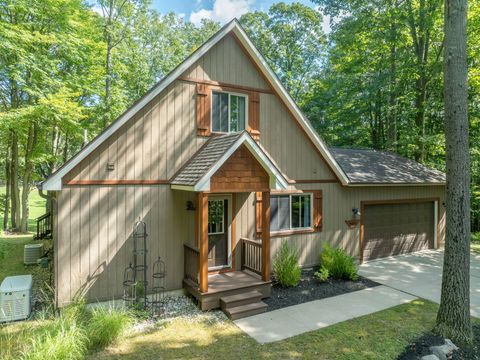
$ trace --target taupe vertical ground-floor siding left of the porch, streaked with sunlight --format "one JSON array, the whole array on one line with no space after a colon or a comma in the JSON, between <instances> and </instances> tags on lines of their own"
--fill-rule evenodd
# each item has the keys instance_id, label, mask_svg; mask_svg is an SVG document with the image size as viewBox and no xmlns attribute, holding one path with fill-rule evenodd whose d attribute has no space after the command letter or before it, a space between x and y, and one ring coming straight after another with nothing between
<instances>
[{"instance_id":1,"label":"taupe vertical ground-floor siding left of the porch, streaked with sunlight","mask_svg":"<svg viewBox=\"0 0 480 360\"><path fill-rule=\"evenodd\" d=\"M75 296L88 301L123 295L125 268L133 261L133 225L147 223L148 269L161 256L166 264L166 287L182 287L183 244L195 244L195 212L186 202L195 194L172 191L166 185L69 186L57 198L55 236L57 303Z\"/></svg>"}]
</instances>

